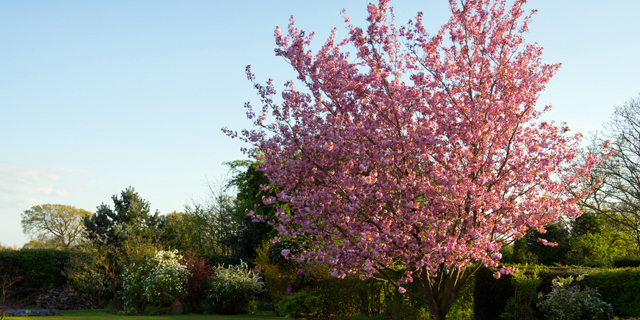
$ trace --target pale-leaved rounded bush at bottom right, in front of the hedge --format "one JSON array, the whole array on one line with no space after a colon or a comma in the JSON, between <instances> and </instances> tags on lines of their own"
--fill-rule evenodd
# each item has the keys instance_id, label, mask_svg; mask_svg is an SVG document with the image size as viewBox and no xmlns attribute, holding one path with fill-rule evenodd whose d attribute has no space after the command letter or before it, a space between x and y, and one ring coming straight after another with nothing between
<instances>
[{"instance_id":1,"label":"pale-leaved rounded bush at bottom right, in front of the hedge","mask_svg":"<svg viewBox=\"0 0 640 320\"><path fill-rule=\"evenodd\" d=\"M580 281L584 277L579 276ZM573 277L553 280L550 293L539 294L538 307L549 320L606 320L613 316L613 308L602 301L595 289L571 285Z\"/></svg>"}]
</instances>

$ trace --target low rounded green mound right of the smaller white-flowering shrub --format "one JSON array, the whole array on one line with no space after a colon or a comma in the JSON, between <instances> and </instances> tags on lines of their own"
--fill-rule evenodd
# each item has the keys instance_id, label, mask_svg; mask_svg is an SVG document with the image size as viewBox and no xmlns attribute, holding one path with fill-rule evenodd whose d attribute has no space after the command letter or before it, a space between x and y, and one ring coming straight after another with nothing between
<instances>
[{"instance_id":1,"label":"low rounded green mound right of the smaller white-flowering shrub","mask_svg":"<svg viewBox=\"0 0 640 320\"><path fill-rule=\"evenodd\" d=\"M287 318L318 317L323 313L325 303L322 296L312 290L303 290L280 301L278 314Z\"/></svg>"}]
</instances>

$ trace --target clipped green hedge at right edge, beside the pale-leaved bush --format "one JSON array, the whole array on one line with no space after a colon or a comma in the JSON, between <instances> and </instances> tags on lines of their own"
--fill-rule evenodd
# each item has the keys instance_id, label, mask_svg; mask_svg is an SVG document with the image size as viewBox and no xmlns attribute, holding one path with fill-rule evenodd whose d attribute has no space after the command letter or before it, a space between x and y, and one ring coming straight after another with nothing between
<instances>
[{"instance_id":1,"label":"clipped green hedge at right edge, beside the pale-leaved bush","mask_svg":"<svg viewBox=\"0 0 640 320\"><path fill-rule=\"evenodd\" d=\"M585 283L598 288L620 317L640 317L640 269L610 269L588 275Z\"/></svg>"}]
</instances>

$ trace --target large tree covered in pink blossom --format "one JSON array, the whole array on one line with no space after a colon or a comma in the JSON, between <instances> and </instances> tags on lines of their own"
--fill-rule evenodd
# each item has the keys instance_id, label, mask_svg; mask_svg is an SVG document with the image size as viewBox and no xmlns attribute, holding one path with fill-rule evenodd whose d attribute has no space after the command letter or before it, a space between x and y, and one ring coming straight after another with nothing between
<instances>
[{"instance_id":1,"label":"large tree covered in pink blossom","mask_svg":"<svg viewBox=\"0 0 640 320\"><path fill-rule=\"evenodd\" d=\"M580 182L597 162L578 164L581 136L539 120L550 107L536 100L560 64L524 42L526 0L460 2L429 36L421 14L397 28L380 0L366 29L349 25L340 42L334 29L315 54L292 18L287 35L275 31L276 55L303 89L289 81L276 102L273 81L256 83L247 67L263 106L246 105L253 129L223 129L261 151L245 149L278 187L265 203L288 205L271 222L280 235L312 239L292 258L336 277L396 273L436 319L475 270L499 266L502 246L580 215Z\"/></svg>"}]
</instances>

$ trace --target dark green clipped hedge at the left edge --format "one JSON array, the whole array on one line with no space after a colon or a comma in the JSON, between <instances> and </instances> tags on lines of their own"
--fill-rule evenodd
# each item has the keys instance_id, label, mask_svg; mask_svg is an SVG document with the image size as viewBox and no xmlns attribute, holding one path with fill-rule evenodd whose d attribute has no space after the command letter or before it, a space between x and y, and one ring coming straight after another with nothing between
<instances>
[{"instance_id":1,"label":"dark green clipped hedge at the left edge","mask_svg":"<svg viewBox=\"0 0 640 320\"><path fill-rule=\"evenodd\" d=\"M16 284L21 288L62 286L67 283L62 271L74 254L53 249L0 251L0 275L23 277Z\"/></svg>"}]
</instances>

